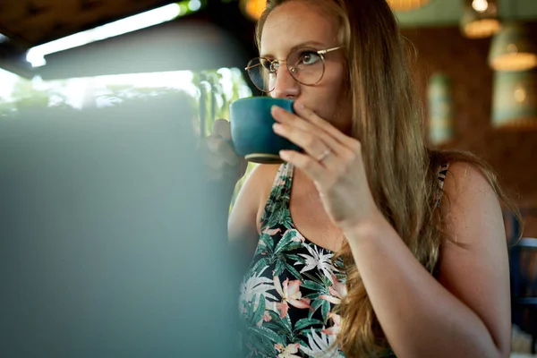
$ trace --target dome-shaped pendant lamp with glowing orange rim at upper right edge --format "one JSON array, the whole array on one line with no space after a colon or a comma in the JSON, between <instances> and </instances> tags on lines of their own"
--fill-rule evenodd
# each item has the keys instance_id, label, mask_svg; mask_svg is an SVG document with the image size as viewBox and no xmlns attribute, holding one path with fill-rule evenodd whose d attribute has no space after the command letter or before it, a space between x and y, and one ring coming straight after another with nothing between
<instances>
[{"instance_id":1,"label":"dome-shaped pendant lamp with glowing orange rim at upper right edge","mask_svg":"<svg viewBox=\"0 0 537 358\"><path fill-rule=\"evenodd\" d=\"M528 30L519 23L507 23L492 38L490 67L497 71L524 71L537 67L537 47Z\"/></svg>"}]
</instances>

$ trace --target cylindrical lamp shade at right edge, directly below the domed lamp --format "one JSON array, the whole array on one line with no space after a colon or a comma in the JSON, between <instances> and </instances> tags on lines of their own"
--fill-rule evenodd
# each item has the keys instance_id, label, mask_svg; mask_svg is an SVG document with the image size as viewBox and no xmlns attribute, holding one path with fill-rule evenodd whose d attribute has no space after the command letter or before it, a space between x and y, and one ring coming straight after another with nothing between
<instances>
[{"instance_id":1,"label":"cylindrical lamp shade at right edge, directly below the domed lamp","mask_svg":"<svg viewBox=\"0 0 537 358\"><path fill-rule=\"evenodd\" d=\"M492 125L537 128L537 70L495 72Z\"/></svg>"}]
</instances>

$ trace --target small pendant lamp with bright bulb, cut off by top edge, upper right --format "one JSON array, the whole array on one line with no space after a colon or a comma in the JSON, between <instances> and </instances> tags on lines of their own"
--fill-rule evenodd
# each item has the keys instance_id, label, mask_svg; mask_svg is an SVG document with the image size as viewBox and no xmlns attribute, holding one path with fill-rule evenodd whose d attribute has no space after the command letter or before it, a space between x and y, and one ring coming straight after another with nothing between
<instances>
[{"instance_id":1,"label":"small pendant lamp with bright bulb, cut off by top edge, upper right","mask_svg":"<svg viewBox=\"0 0 537 358\"><path fill-rule=\"evenodd\" d=\"M461 31L466 38L489 38L501 29L496 1L489 0L483 4L486 6L476 8L473 1L465 1Z\"/></svg>"}]
</instances>

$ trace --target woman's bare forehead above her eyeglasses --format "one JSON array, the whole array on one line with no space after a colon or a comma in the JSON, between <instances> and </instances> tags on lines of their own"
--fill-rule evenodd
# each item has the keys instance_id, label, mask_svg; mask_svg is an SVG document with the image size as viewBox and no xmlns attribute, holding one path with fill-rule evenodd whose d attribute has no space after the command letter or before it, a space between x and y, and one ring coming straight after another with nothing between
<instances>
[{"instance_id":1,"label":"woman's bare forehead above her eyeglasses","mask_svg":"<svg viewBox=\"0 0 537 358\"><path fill-rule=\"evenodd\" d=\"M291 1L268 15L260 41L260 55L285 57L297 47L337 46L336 21L318 6Z\"/></svg>"}]
</instances>

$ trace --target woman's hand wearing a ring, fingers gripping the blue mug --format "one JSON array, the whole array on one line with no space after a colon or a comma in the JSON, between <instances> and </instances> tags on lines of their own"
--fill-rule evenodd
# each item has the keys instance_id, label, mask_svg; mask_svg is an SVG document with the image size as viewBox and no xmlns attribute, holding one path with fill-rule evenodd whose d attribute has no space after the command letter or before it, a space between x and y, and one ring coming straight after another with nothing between
<instances>
[{"instance_id":1,"label":"woman's hand wearing a ring, fingers gripping the blue mug","mask_svg":"<svg viewBox=\"0 0 537 358\"><path fill-rule=\"evenodd\" d=\"M359 141L338 131L300 103L296 115L273 107L274 132L304 152L283 150L280 157L301 169L315 183L328 215L344 232L380 217L367 182Z\"/></svg>"}]
</instances>

